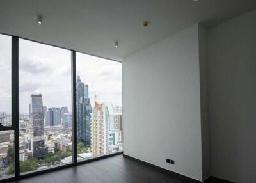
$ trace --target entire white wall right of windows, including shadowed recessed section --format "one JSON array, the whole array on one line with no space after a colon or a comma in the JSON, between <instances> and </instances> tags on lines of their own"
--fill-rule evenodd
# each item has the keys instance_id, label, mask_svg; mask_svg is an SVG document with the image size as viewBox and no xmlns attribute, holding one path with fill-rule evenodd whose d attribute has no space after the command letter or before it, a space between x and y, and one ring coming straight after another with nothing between
<instances>
[{"instance_id":1,"label":"entire white wall right of windows, including shadowed recessed section","mask_svg":"<svg viewBox=\"0 0 256 183\"><path fill-rule=\"evenodd\" d=\"M197 180L256 182L255 21L191 26L124 58L124 154Z\"/></svg>"}]
</instances>

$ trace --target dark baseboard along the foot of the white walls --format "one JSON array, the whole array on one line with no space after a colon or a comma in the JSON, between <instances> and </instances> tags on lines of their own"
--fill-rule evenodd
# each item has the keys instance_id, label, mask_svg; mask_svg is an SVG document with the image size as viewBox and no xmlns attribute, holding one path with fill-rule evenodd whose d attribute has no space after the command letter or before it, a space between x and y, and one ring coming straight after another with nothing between
<instances>
[{"instance_id":1,"label":"dark baseboard along the foot of the white walls","mask_svg":"<svg viewBox=\"0 0 256 183\"><path fill-rule=\"evenodd\" d=\"M200 182L200 183L202 183L202 181L193 179L191 177L187 177L185 175L181 175L180 173L176 173L174 171L167 170L167 169L162 168L160 166L156 166L155 164L151 164L151 163L142 161L140 159L137 159L135 157L131 157L131 156L126 155L126 154L123 154L123 157L128 158L128 159L132 159L133 161L137 161L137 162L143 163L146 166L150 166L151 168L156 169L157 171L162 171L164 173L168 173L172 177L177 177L177 179L184 180L186 182L191 182L191 183L199 183ZM217 177L209 176L206 180L204 180L204 183L234 183L234 182L230 182L228 180L223 180L223 179L219 179Z\"/></svg>"}]
</instances>

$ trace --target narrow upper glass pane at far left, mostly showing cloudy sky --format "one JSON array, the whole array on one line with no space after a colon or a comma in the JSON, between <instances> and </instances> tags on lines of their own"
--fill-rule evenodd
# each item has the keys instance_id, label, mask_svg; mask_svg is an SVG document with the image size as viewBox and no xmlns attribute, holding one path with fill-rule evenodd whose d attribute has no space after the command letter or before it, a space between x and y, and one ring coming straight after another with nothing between
<instances>
[{"instance_id":1,"label":"narrow upper glass pane at far left, mostly showing cloudy sky","mask_svg":"<svg viewBox=\"0 0 256 183\"><path fill-rule=\"evenodd\" d=\"M0 127L12 125L12 37L0 35Z\"/></svg>"}]
</instances>

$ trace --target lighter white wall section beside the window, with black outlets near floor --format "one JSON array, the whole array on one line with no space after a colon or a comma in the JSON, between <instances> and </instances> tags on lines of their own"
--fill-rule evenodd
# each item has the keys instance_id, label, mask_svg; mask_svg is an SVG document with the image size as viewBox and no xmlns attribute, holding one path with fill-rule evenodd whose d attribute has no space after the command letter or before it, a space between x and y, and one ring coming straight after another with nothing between
<instances>
[{"instance_id":1,"label":"lighter white wall section beside the window, with black outlets near floor","mask_svg":"<svg viewBox=\"0 0 256 183\"><path fill-rule=\"evenodd\" d=\"M124 58L124 154L202 180L198 49L196 24Z\"/></svg>"}]
</instances>

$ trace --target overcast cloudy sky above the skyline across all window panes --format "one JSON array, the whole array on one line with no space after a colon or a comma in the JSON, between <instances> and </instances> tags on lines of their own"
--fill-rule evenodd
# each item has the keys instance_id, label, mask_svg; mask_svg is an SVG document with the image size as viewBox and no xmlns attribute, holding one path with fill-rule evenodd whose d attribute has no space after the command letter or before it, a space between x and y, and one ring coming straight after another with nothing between
<instances>
[{"instance_id":1,"label":"overcast cloudy sky above the skyline across all window panes","mask_svg":"<svg viewBox=\"0 0 256 183\"><path fill-rule=\"evenodd\" d=\"M10 113L10 37L0 35L0 111ZM70 51L19 40L19 110L29 112L31 94L41 93L47 107L71 109ZM77 74L89 85L94 106L95 94L101 102L122 106L122 64L77 53Z\"/></svg>"}]
</instances>

